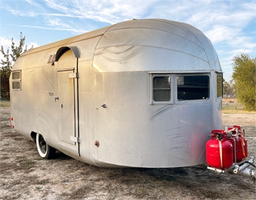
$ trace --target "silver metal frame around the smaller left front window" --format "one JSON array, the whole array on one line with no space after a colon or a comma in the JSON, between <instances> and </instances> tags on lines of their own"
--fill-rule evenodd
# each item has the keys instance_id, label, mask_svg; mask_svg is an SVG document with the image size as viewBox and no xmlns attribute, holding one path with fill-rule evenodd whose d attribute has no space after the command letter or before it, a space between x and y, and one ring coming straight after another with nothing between
<instances>
[{"instance_id":1,"label":"silver metal frame around the smaller left front window","mask_svg":"<svg viewBox=\"0 0 256 200\"><path fill-rule=\"evenodd\" d=\"M169 77L170 78L170 101L154 101L154 77ZM173 74L170 73L151 73L150 82L151 82L151 97L150 104L173 104Z\"/></svg>"}]
</instances>

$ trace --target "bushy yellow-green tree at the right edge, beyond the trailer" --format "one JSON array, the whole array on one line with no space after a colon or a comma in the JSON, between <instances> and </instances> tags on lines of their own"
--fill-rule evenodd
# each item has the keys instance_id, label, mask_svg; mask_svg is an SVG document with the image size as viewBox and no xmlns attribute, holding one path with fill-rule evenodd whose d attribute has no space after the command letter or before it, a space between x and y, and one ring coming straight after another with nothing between
<instances>
[{"instance_id":1,"label":"bushy yellow-green tree at the right edge, beyond the trailer","mask_svg":"<svg viewBox=\"0 0 256 200\"><path fill-rule=\"evenodd\" d=\"M246 53L233 57L233 80L236 96L244 109L256 111L256 57Z\"/></svg>"}]
</instances>

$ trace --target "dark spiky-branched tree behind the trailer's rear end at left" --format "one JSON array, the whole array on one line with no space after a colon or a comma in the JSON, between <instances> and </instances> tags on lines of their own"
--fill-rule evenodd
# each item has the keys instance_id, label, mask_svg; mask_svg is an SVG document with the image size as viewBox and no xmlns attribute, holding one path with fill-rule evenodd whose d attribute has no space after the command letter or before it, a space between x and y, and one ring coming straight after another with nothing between
<instances>
[{"instance_id":1,"label":"dark spiky-branched tree behind the trailer's rear end at left","mask_svg":"<svg viewBox=\"0 0 256 200\"><path fill-rule=\"evenodd\" d=\"M11 45L12 53L10 53L9 47L7 48L7 51L5 53L4 47L1 46L1 53L4 55L4 58L1 59L1 69L0 69L1 98L10 99L9 77L12 70L12 64L15 61L17 61L18 57L20 57L21 54L25 53L28 50L27 45L24 48L25 39L26 39L26 36L23 36L22 32L20 32L20 44L16 46L14 39L12 38L12 45ZM31 48L33 48L33 46Z\"/></svg>"}]
</instances>

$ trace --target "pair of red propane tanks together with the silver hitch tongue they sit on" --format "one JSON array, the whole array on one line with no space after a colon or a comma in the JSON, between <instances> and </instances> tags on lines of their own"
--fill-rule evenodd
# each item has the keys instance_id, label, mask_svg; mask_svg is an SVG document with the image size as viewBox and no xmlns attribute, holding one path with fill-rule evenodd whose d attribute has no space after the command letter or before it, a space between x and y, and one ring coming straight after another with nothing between
<instances>
[{"instance_id":1,"label":"pair of red propane tanks together with the silver hitch tongue they sit on","mask_svg":"<svg viewBox=\"0 0 256 200\"><path fill-rule=\"evenodd\" d=\"M240 126L226 127L225 130L211 131L206 142L208 169L215 172L239 174L256 179L255 158L248 158L247 140Z\"/></svg>"}]
</instances>

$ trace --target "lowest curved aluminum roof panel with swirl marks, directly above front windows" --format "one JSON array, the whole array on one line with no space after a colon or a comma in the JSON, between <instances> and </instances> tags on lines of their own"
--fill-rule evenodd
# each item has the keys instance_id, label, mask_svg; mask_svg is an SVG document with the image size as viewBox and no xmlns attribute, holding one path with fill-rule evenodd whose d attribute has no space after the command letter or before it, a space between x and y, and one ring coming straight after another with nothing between
<instances>
[{"instance_id":1,"label":"lowest curved aluminum roof panel with swirl marks, directly above front windows","mask_svg":"<svg viewBox=\"0 0 256 200\"><path fill-rule=\"evenodd\" d=\"M203 59L177 51L144 46L108 47L96 50L94 66L101 72L210 71L208 62Z\"/></svg>"}]
</instances>

